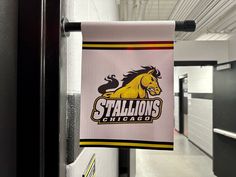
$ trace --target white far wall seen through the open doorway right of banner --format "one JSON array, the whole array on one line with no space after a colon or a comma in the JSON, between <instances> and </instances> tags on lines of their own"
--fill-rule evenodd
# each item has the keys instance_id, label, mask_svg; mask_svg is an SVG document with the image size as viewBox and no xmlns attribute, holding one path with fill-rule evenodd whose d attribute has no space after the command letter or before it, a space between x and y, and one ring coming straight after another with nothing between
<instances>
[{"instance_id":1,"label":"white far wall seen through the open doorway right of banner","mask_svg":"<svg viewBox=\"0 0 236 177\"><path fill-rule=\"evenodd\" d=\"M179 76L188 75L188 93L213 93L213 68L211 66L175 67L174 91L179 92ZM212 100L188 99L188 138L212 156ZM175 127L178 130L178 97L175 96Z\"/></svg>"}]
</instances>

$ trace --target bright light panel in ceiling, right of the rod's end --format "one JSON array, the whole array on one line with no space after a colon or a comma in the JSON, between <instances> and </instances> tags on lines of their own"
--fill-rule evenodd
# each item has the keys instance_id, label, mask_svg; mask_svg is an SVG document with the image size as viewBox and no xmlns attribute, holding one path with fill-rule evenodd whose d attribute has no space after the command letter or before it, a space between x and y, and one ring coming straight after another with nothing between
<instances>
[{"instance_id":1,"label":"bright light panel in ceiling, right of the rod's end","mask_svg":"<svg viewBox=\"0 0 236 177\"><path fill-rule=\"evenodd\" d=\"M226 41L230 38L230 34L226 33L205 33L199 36L196 41Z\"/></svg>"}]
</instances>

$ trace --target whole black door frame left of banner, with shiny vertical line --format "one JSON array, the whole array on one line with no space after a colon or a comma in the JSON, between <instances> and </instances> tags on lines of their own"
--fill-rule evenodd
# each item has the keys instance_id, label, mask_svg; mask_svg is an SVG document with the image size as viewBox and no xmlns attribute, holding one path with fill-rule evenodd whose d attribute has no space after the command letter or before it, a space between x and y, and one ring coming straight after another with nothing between
<instances>
[{"instance_id":1,"label":"whole black door frame left of banner, with shiny vertical line","mask_svg":"<svg viewBox=\"0 0 236 177\"><path fill-rule=\"evenodd\" d=\"M66 176L66 58L60 0L18 2L17 175Z\"/></svg>"}]
</instances>

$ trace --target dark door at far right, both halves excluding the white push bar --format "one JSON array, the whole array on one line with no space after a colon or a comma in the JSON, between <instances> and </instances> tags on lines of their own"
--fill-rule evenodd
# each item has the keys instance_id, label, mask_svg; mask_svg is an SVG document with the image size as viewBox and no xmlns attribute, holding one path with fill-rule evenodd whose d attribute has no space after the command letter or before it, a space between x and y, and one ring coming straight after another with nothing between
<instances>
[{"instance_id":1,"label":"dark door at far right, both halves excluding the white push bar","mask_svg":"<svg viewBox=\"0 0 236 177\"><path fill-rule=\"evenodd\" d=\"M236 61L231 69L214 69L213 127L236 132ZM213 166L218 177L235 176L236 140L214 133Z\"/></svg>"}]
</instances>

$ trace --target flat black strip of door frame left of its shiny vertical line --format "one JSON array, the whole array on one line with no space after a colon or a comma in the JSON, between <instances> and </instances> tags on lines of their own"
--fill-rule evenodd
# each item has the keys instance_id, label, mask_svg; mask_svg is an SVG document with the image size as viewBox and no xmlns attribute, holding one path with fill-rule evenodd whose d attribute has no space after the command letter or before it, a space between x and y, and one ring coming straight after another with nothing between
<instances>
[{"instance_id":1,"label":"flat black strip of door frame left of its shiny vertical line","mask_svg":"<svg viewBox=\"0 0 236 177\"><path fill-rule=\"evenodd\" d=\"M39 177L43 171L40 136L41 0L33 3L19 0L18 15L17 176L30 174Z\"/></svg>"}]
</instances>

